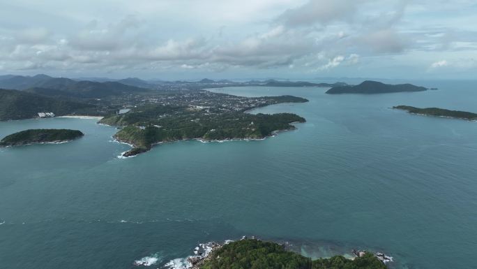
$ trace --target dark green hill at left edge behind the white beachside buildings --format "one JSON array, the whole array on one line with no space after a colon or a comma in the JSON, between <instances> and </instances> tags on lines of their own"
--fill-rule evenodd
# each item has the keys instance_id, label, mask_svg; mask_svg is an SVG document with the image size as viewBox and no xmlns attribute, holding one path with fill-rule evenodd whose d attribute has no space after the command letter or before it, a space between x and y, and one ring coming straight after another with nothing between
<instances>
[{"instance_id":1,"label":"dark green hill at left edge behind the white beachside buildings","mask_svg":"<svg viewBox=\"0 0 477 269\"><path fill-rule=\"evenodd\" d=\"M92 115L97 113L95 106L87 103L53 99L13 89L0 89L0 120L29 119L37 117L38 112L54 112L55 115L73 112Z\"/></svg>"}]
</instances>

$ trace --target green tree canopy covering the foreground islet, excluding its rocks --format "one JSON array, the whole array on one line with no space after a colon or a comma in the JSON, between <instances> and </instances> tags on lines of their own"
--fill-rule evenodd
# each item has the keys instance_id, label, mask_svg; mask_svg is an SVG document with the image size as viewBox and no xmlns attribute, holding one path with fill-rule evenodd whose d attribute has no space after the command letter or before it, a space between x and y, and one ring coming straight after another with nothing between
<instances>
[{"instance_id":1,"label":"green tree canopy covering the foreground islet, excluding its rocks","mask_svg":"<svg viewBox=\"0 0 477 269\"><path fill-rule=\"evenodd\" d=\"M231 242L211 253L201 269L386 269L372 254L354 260L343 256L317 259L288 252L274 242L240 240Z\"/></svg>"}]
</instances>

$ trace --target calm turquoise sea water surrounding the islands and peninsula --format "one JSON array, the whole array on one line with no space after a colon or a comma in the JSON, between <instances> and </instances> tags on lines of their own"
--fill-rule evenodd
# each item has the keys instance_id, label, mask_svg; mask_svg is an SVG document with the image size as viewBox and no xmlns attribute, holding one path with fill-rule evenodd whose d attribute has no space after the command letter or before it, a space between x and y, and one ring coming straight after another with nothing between
<instances>
[{"instance_id":1,"label":"calm turquoise sea water surrounding the islands and peninsula","mask_svg":"<svg viewBox=\"0 0 477 269\"><path fill-rule=\"evenodd\" d=\"M457 85L457 86L456 86ZM259 235L309 256L384 251L395 268L476 268L477 123L391 106L477 112L477 84L328 96L323 88L215 89L293 94L295 131L259 141L183 141L129 159L115 129L90 119L0 122L0 137L79 129L61 145L0 150L0 268L160 268L197 242Z\"/></svg>"}]
</instances>

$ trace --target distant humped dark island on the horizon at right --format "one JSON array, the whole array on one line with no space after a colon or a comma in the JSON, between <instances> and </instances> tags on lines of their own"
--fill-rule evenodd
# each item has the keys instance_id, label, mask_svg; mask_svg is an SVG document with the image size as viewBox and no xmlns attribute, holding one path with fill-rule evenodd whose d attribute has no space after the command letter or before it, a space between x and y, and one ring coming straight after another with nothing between
<instances>
[{"instance_id":1,"label":"distant humped dark island on the horizon at right","mask_svg":"<svg viewBox=\"0 0 477 269\"><path fill-rule=\"evenodd\" d=\"M390 85L382 82L366 80L360 85L333 87L326 94L388 94L393 92L424 92L427 88L412 84Z\"/></svg>"}]
</instances>

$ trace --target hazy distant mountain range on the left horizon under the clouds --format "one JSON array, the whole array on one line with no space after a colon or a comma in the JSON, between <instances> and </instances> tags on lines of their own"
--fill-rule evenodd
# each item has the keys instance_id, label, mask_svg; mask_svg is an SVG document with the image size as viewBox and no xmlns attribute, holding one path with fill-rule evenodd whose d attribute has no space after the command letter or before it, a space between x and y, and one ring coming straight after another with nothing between
<instances>
[{"instance_id":1,"label":"hazy distant mountain range on the left horizon under the clouds","mask_svg":"<svg viewBox=\"0 0 477 269\"><path fill-rule=\"evenodd\" d=\"M126 79L132 83L132 79ZM138 81L134 80L136 83ZM17 89L45 96L68 96L76 98L102 98L105 96L148 92L149 89L126 85L121 82L77 81L69 78L52 78L49 75L3 75L0 88Z\"/></svg>"}]
</instances>

